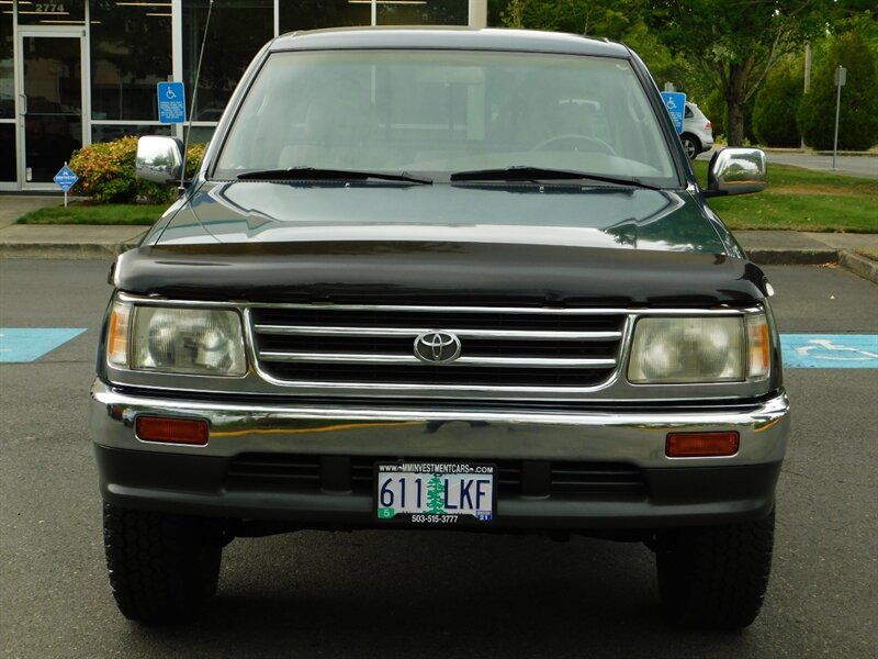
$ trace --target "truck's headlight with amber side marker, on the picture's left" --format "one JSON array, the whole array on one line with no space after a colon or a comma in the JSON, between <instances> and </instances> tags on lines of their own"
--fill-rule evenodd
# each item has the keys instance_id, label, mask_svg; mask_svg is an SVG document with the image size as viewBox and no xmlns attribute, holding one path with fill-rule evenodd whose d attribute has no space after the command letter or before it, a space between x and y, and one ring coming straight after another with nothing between
<instances>
[{"instance_id":1,"label":"truck's headlight with amber side marker, on the picture's left","mask_svg":"<svg viewBox=\"0 0 878 659\"><path fill-rule=\"evenodd\" d=\"M243 376L246 362L240 315L222 309L117 302L110 319L108 360L133 370Z\"/></svg>"}]
</instances>

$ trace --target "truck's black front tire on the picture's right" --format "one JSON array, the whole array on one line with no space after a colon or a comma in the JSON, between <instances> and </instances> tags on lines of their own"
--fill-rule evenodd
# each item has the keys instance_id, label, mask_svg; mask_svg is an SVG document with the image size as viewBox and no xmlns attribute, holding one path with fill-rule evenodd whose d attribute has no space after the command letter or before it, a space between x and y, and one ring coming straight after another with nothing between
<instances>
[{"instance_id":1,"label":"truck's black front tire on the picture's right","mask_svg":"<svg viewBox=\"0 0 878 659\"><path fill-rule=\"evenodd\" d=\"M658 593L671 617L714 629L740 629L759 613L774 546L774 511L764 520L660 533Z\"/></svg>"}]
</instances>

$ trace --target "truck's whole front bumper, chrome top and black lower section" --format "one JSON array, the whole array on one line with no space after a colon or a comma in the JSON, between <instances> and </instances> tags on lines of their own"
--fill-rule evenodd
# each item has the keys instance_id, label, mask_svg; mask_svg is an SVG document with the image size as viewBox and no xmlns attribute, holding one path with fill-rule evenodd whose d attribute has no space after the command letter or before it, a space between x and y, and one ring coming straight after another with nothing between
<instances>
[{"instance_id":1,"label":"truck's whole front bumper, chrome top and black lower section","mask_svg":"<svg viewBox=\"0 0 878 659\"><path fill-rule=\"evenodd\" d=\"M729 409L571 411L483 405L227 402L166 398L92 388L91 427L103 498L119 505L302 528L374 527L372 493L352 487L352 458L510 461L521 481L500 492L497 529L649 529L719 524L766 515L786 450L789 407L781 391ZM138 415L205 418L204 447L142 442ZM724 458L671 459L668 432L738 431L739 453ZM316 465L308 487L233 482L240 456L306 456ZM543 465L624 465L642 487L599 492L534 490L528 473Z\"/></svg>"}]
</instances>

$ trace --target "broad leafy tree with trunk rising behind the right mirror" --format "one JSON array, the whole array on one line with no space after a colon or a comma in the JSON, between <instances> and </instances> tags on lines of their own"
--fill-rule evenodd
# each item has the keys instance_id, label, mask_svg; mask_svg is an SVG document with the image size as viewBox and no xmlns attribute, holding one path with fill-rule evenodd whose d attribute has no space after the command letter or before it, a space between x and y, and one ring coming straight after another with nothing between
<instances>
[{"instance_id":1,"label":"broad leafy tree with trunk rising behind the right mirror","mask_svg":"<svg viewBox=\"0 0 878 659\"><path fill-rule=\"evenodd\" d=\"M787 53L820 30L831 0L641 0L640 11L672 51L694 62L725 100L730 146L744 141L750 101Z\"/></svg>"}]
</instances>

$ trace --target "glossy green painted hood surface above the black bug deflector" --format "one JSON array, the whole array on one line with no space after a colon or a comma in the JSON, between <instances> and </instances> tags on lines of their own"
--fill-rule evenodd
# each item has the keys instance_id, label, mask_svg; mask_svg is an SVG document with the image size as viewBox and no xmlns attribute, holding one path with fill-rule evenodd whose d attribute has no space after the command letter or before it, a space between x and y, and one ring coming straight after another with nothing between
<instances>
[{"instance_id":1,"label":"glossy green painted hood surface above the black bug deflector","mask_svg":"<svg viewBox=\"0 0 878 659\"><path fill-rule=\"evenodd\" d=\"M205 183L147 243L429 241L723 254L686 192L620 187Z\"/></svg>"}]
</instances>

